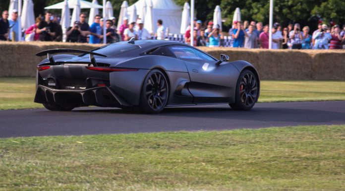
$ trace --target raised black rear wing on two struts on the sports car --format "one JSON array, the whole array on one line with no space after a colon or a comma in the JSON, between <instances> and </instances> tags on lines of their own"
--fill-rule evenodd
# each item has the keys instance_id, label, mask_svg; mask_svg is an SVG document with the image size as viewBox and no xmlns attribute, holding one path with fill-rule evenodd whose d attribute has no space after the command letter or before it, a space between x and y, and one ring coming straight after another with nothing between
<instances>
[{"instance_id":1,"label":"raised black rear wing on two struts on the sports car","mask_svg":"<svg viewBox=\"0 0 345 191\"><path fill-rule=\"evenodd\" d=\"M46 50L46 51L42 51L36 54L36 56L42 57L47 55L47 58L50 62L50 64L55 65L55 60L53 58L53 54L57 54L57 53L81 53L81 54L88 54L91 63L94 66L97 66L96 63L96 59L95 59L95 55L96 56L100 56L100 57L107 57L106 55L102 55L99 53L95 53L95 52L90 52L90 51L83 51L83 50L77 50L77 49L51 49L51 50Z\"/></svg>"}]
</instances>

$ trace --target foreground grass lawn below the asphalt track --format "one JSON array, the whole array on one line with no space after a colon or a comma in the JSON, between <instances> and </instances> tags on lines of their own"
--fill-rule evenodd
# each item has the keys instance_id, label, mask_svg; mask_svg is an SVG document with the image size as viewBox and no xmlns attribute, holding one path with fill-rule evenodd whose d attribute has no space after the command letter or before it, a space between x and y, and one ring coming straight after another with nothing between
<instances>
[{"instance_id":1,"label":"foreground grass lawn below the asphalt track","mask_svg":"<svg viewBox=\"0 0 345 191\"><path fill-rule=\"evenodd\" d=\"M0 139L0 191L344 191L345 125Z\"/></svg>"}]
</instances>

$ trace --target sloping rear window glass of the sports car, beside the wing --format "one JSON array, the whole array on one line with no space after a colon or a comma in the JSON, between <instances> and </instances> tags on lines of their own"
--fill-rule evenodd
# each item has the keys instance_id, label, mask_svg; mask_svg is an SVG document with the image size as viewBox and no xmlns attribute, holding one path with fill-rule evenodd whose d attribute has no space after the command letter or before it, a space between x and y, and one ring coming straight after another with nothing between
<instances>
[{"instance_id":1,"label":"sloping rear window glass of the sports car, beside the wing","mask_svg":"<svg viewBox=\"0 0 345 191\"><path fill-rule=\"evenodd\" d=\"M122 53L126 53L135 49L139 49L139 46L131 44L109 44L97 49L92 50L91 52L99 53L106 56L115 56ZM87 56L87 55L81 55Z\"/></svg>"}]
</instances>

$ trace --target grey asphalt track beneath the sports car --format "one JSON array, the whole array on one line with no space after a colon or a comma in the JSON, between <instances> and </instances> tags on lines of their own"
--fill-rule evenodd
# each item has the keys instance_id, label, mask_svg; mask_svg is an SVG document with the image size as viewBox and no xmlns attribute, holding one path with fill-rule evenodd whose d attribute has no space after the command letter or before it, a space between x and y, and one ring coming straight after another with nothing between
<instances>
[{"instance_id":1,"label":"grey asphalt track beneath the sports car","mask_svg":"<svg viewBox=\"0 0 345 191\"><path fill-rule=\"evenodd\" d=\"M0 137L338 124L345 124L345 101L260 103L251 111L234 111L229 105L174 107L158 115L98 107L0 111Z\"/></svg>"}]
</instances>

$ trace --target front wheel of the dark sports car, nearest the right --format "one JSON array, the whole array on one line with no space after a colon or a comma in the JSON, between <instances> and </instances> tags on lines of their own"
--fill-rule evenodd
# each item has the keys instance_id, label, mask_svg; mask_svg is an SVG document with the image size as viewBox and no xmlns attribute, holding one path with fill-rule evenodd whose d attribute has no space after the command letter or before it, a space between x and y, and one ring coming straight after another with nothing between
<instances>
[{"instance_id":1,"label":"front wheel of the dark sports car, nearest the right","mask_svg":"<svg viewBox=\"0 0 345 191\"><path fill-rule=\"evenodd\" d=\"M236 83L235 102L229 104L234 110L250 110L258 100L258 79L250 70L243 70Z\"/></svg>"}]
</instances>

